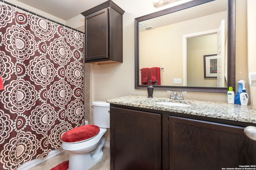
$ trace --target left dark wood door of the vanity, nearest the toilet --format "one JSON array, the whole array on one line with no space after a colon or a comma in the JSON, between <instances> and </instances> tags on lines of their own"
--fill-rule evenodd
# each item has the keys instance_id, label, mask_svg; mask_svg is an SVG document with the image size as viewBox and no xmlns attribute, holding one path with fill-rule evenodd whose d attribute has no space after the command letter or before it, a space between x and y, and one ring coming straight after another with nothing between
<instances>
[{"instance_id":1,"label":"left dark wood door of the vanity, nearest the toilet","mask_svg":"<svg viewBox=\"0 0 256 170\"><path fill-rule=\"evenodd\" d=\"M161 115L110 109L111 170L161 169Z\"/></svg>"}]
</instances>

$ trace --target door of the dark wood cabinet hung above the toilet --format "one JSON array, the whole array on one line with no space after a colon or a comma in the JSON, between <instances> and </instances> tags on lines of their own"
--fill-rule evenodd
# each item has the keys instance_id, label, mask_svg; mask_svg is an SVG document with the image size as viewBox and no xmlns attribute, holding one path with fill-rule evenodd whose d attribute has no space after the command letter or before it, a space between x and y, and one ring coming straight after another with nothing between
<instances>
[{"instance_id":1,"label":"door of the dark wood cabinet hung above the toilet","mask_svg":"<svg viewBox=\"0 0 256 170\"><path fill-rule=\"evenodd\" d=\"M85 60L108 58L108 8L85 17Z\"/></svg>"}]
</instances>

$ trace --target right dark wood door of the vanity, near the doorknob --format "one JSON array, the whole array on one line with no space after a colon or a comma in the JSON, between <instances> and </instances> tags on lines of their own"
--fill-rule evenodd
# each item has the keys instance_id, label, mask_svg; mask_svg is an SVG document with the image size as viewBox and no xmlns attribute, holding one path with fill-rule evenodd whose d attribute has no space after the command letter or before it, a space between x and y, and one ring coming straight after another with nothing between
<instances>
[{"instance_id":1,"label":"right dark wood door of the vanity, near the doorknob","mask_svg":"<svg viewBox=\"0 0 256 170\"><path fill-rule=\"evenodd\" d=\"M256 142L243 127L169 116L170 170L256 165ZM254 167L255 168L255 167Z\"/></svg>"}]
</instances>

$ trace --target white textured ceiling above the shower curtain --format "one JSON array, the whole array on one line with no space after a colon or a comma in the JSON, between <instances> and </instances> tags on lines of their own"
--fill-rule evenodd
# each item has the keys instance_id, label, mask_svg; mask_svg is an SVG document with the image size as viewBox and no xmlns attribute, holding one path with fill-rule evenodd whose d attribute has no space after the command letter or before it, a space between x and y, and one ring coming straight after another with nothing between
<instances>
[{"instance_id":1,"label":"white textured ceiling above the shower curtain","mask_svg":"<svg viewBox=\"0 0 256 170\"><path fill-rule=\"evenodd\" d=\"M106 0L17 0L38 10L69 20ZM114 1L114 0L113 0Z\"/></svg>"}]
</instances>

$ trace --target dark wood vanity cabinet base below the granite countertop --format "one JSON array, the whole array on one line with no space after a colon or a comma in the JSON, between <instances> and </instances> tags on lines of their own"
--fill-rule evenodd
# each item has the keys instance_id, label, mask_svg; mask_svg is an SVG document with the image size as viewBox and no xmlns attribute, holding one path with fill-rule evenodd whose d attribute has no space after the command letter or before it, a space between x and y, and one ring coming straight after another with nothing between
<instances>
[{"instance_id":1,"label":"dark wood vanity cabinet base below the granite countertop","mask_svg":"<svg viewBox=\"0 0 256 170\"><path fill-rule=\"evenodd\" d=\"M252 123L110 104L111 170L256 168Z\"/></svg>"}]
</instances>

